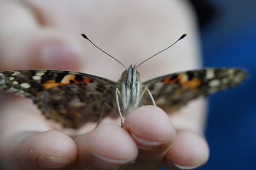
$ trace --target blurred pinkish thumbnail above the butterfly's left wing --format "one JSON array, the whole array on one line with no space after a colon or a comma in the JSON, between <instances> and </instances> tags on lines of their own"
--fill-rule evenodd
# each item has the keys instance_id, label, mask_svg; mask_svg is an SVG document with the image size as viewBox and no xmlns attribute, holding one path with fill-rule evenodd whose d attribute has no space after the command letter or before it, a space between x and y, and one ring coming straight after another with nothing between
<instances>
[{"instance_id":1,"label":"blurred pinkish thumbnail above the butterfly's left wing","mask_svg":"<svg viewBox=\"0 0 256 170\"><path fill-rule=\"evenodd\" d=\"M80 49L74 44L46 45L41 55L43 64L52 69L71 70L79 65Z\"/></svg>"}]
</instances>

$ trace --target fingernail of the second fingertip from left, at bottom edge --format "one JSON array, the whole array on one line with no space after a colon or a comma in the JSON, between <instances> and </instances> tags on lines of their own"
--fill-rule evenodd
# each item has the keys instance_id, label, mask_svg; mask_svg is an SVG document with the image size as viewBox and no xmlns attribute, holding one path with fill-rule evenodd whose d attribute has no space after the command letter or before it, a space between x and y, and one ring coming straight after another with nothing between
<instances>
[{"instance_id":1,"label":"fingernail of the second fingertip from left, at bottom edge","mask_svg":"<svg viewBox=\"0 0 256 170\"><path fill-rule=\"evenodd\" d=\"M116 160L92 153L92 163L96 168L105 170L118 170L120 166L128 164L131 160Z\"/></svg>"}]
</instances>

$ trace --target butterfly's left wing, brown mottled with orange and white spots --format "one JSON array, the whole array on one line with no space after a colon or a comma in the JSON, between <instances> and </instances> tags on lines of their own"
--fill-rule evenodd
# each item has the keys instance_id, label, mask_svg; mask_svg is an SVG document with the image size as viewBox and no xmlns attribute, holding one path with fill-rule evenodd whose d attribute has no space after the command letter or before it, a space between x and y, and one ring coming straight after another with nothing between
<instances>
[{"instance_id":1,"label":"butterfly's left wing, brown mottled with orange and white spots","mask_svg":"<svg viewBox=\"0 0 256 170\"><path fill-rule=\"evenodd\" d=\"M0 73L0 89L31 98L47 118L73 128L85 122L97 122L101 116L110 116L110 107L116 107L114 89L118 86L117 82L80 72L23 70ZM104 107L102 112L104 103L110 107Z\"/></svg>"}]
</instances>

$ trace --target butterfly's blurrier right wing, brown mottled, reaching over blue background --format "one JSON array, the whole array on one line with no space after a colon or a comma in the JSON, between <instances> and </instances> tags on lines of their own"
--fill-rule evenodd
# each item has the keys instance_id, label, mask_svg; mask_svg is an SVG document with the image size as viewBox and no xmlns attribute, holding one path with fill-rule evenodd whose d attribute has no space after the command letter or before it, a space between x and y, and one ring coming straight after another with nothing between
<instances>
[{"instance_id":1,"label":"butterfly's blurrier right wing, brown mottled, reaching over blue background","mask_svg":"<svg viewBox=\"0 0 256 170\"><path fill-rule=\"evenodd\" d=\"M161 76L143 86L151 91L157 106L175 111L194 98L234 87L246 77L247 72L240 69L207 68ZM147 94L141 104L152 104Z\"/></svg>"}]
</instances>

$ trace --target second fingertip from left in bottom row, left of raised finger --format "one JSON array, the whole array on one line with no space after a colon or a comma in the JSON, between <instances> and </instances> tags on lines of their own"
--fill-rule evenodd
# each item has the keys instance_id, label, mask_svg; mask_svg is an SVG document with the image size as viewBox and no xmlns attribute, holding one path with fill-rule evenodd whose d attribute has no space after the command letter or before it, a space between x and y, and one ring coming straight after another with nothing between
<instances>
[{"instance_id":1,"label":"second fingertip from left in bottom row, left of raised finger","mask_svg":"<svg viewBox=\"0 0 256 170\"><path fill-rule=\"evenodd\" d=\"M117 125L102 125L76 139L78 158L74 170L124 168L137 157L137 146Z\"/></svg>"}]
</instances>

